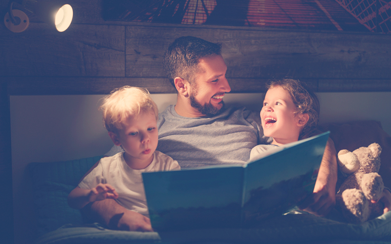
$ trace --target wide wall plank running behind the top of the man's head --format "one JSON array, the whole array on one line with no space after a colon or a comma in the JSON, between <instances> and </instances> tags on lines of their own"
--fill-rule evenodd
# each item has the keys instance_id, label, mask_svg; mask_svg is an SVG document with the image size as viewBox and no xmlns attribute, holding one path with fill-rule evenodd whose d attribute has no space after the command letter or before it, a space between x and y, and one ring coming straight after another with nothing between
<instances>
[{"instance_id":1,"label":"wide wall plank running behind the top of the man's head","mask_svg":"<svg viewBox=\"0 0 391 244\"><path fill-rule=\"evenodd\" d=\"M180 36L221 42L236 78L388 79L390 35L260 29L126 27L126 76L162 76L162 57Z\"/></svg>"}]
</instances>

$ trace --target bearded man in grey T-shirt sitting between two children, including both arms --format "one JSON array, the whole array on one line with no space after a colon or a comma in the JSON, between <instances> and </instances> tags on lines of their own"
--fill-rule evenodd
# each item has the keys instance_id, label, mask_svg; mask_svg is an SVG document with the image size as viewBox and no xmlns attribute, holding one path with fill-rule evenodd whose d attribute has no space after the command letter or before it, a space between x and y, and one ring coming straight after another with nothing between
<instances>
[{"instance_id":1,"label":"bearded man in grey T-shirt sitting between two children, including both arms","mask_svg":"<svg viewBox=\"0 0 391 244\"><path fill-rule=\"evenodd\" d=\"M178 38L165 53L164 68L177 90L177 101L159 114L157 150L178 161L181 168L246 163L251 149L266 143L258 113L224 107L223 97L231 87L225 78L227 66L220 44L195 37ZM113 148L109 156L116 152L118 148ZM335 204L336 180L336 152L330 140L314 193L301 207L326 215ZM85 210L110 228L152 230L148 218L114 200L92 203Z\"/></svg>"}]
</instances>

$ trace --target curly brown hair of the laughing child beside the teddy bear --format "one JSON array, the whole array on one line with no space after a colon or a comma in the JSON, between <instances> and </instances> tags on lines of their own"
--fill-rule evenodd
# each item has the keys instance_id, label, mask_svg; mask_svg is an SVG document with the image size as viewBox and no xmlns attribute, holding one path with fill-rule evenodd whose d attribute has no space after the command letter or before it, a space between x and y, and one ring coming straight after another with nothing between
<instances>
[{"instance_id":1,"label":"curly brown hair of the laughing child beside the teddy bear","mask_svg":"<svg viewBox=\"0 0 391 244\"><path fill-rule=\"evenodd\" d=\"M317 131L320 105L315 92L305 82L294 79L272 80L266 84L266 89L276 86L287 91L296 106L295 114L308 114L308 122L303 126L299 140L308 138Z\"/></svg>"}]
</instances>

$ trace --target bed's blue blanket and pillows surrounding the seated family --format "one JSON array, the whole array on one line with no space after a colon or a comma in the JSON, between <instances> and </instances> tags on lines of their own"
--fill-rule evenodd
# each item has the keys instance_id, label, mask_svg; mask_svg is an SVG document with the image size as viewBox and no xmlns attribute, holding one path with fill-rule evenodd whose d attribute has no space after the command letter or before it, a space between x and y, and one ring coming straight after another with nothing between
<instances>
[{"instance_id":1,"label":"bed's blue blanket and pillows surrounding the seated family","mask_svg":"<svg viewBox=\"0 0 391 244\"><path fill-rule=\"evenodd\" d=\"M377 121L354 121L320 125L330 130L337 151L354 150L379 143L382 148L380 174L391 185L391 137ZM391 243L391 212L363 224L347 224L337 212L318 218L291 212L251 228L193 229L180 232L135 232L109 230L89 223L79 210L70 208L66 198L80 178L102 156L66 162L30 163L33 202L38 227L36 244L65 243Z\"/></svg>"}]
</instances>

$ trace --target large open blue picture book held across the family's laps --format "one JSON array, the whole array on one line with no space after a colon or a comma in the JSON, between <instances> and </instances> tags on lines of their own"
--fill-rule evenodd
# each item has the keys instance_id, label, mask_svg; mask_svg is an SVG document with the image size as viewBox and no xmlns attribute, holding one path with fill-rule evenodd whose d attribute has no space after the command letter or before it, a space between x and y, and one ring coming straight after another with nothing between
<instances>
[{"instance_id":1,"label":"large open blue picture book held across the family's laps","mask_svg":"<svg viewBox=\"0 0 391 244\"><path fill-rule=\"evenodd\" d=\"M143 173L152 228L251 226L283 214L314 189L329 132L244 165Z\"/></svg>"}]
</instances>

